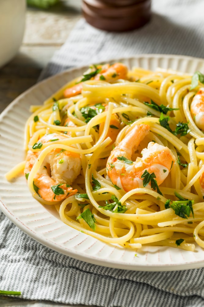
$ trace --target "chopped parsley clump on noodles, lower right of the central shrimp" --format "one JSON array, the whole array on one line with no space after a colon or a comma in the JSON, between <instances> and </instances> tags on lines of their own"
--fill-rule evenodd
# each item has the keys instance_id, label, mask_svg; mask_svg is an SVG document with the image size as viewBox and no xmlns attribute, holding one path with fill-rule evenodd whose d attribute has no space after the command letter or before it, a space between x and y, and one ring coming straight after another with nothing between
<instances>
[{"instance_id":1,"label":"chopped parsley clump on noodles, lower right of the central shrimp","mask_svg":"<svg viewBox=\"0 0 204 307\"><path fill-rule=\"evenodd\" d=\"M190 216L190 213L192 213L192 216L194 218L192 206L194 204L194 200L184 198L176 191L174 192L174 194L179 200L171 201L170 199L168 199L165 202L165 209L172 208L175 211L175 214L182 217L183 219L187 219Z\"/></svg>"}]
</instances>

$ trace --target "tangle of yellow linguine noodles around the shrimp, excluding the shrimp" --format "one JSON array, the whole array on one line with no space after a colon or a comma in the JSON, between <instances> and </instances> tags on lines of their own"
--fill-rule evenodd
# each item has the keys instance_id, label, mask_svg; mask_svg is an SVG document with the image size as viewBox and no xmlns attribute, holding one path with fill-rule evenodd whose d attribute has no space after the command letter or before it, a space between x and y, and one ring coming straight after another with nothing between
<instances>
[{"instance_id":1,"label":"tangle of yellow linguine noodles around the shrimp, excluding the shrimp","mask_svg":"<svg viewBox=\"0 0 204 307\"><path fill-rule=\"evenodd\" d=\"M191 75L162 69L152 72L133 68L128 72L128 80L117 80L113 84L103 80L88 80L83 82L80 95L63 98L64 89L79 80L80 77L66 84L43 106L31 108L33 114L25 129L25 149L40 151L28 176L32 195L42 204L55 205L64 223L107 243L130 248L159 245L194 251L196 242L204 247L204 202L199 183L199 177L204 172L204 137L189 110L192 98L201 85L190 90ZM59 108L54 110L56 100ZM168 123L172 131L178 122L187 123L190 131L183 136L174 135L161 126L161 111L148 106L152 101L177 109L163 114L164 117L169 116ZM86 122L81 109L98 103L106 103L107 111L98 112ZM114 143L110 137L106 137L113 113L121 120ZM37 121L34 120L36 116ZM67 117L74 126L63 126ZM61 122L60 125L53 124L57 120ZM101 123L104 123L104 129L99 134ZM125 192L113 185L107 176L106 162L111 150L133 126L139 124L149 125L150 132L134 153L133 161L141 156L141 150L152 140L167 146L176 157L168 177L159 186L161 194L156 189L146 187ZM53 132L64 134L65 140L45 143L40 149L32 148L40 137ZM35 173L47 153L54 148L79 153L81 157L81 173L72 184L78 193L61 203L43 200L33 188ZM14 176L23 166L24 162L8 173L7 178ZM192 201L193 212L185 218L176 214L171 206L165 208L167 200L170 203L178 200L175 192ZM120 212L103 208L114 201L115 208L119 204L125 210ZM90 212L91 215L86 216Z\"/></svg>"}]
</instances>

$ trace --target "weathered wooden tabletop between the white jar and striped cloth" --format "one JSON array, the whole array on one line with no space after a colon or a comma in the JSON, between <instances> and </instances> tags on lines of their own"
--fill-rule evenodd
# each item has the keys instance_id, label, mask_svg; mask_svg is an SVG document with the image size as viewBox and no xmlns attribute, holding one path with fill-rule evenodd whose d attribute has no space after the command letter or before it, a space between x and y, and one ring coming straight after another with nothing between
<instances>
[{"instance_id":1,"label":"weathered wooden tabletop between the white jar and striped cloth","mask_svg":"<svg viewBox=\"0 0 204 307\"><path fill-rule=\"evenodd\" d=\"M10 63L0 68L0 113L36 83L81 16L81 0L60 0L48 10L27 9L20 50Z\"/></svg>"}]
</instances>

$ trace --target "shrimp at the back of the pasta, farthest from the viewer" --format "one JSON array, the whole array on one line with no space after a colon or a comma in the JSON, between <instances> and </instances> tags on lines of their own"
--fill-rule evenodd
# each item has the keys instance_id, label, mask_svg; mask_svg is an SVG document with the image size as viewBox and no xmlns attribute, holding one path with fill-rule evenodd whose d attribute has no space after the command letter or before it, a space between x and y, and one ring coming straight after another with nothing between
<instances>
[{"instance_id":1,"label":"shrimp at the back of the pasta, farthest from the viewer","mask_svg":"<svg viewBox=\"0 0 204 307\"><path fill-rule=\"evenodd\" d=\"M100 70L100 72L95 76L91 77L90 79L104 80L109 83L112 83L118 79L127 79L128 68L122 63L115 63L113 65L110 64L97 65L95 71L97 71L98 69ZM87 75L88 74L90 73L87 73ZM91 74L94 75L94 71L91 71ZM69 98L72 96L79 95L82 91L82 88L83 88L83 82L75 84L74 86L69 87L64 91L64 97Z\"/></svg>"}]
</instances>

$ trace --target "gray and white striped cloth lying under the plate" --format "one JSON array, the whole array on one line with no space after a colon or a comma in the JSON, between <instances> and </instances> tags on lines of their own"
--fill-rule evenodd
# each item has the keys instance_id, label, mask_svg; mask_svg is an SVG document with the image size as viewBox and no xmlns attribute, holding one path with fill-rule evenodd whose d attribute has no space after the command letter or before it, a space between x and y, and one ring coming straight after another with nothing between
<instances>
[{"instance_id":1,"label":"gray and white striped cloth lying under the plate","mask_svg":"<svg viewBox=\"0 0 204 307\"><path fill-rule=\"evenodd\" d=\"M204 1L154 0L149 24L108 33L83 19L40 79L65 68L135 53L203 57ZM66 257L35 242L0 214L0 289L25 299L97 306L204 306L204 269L134 272Z\"/></svg>"}]
</instances>

